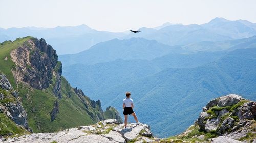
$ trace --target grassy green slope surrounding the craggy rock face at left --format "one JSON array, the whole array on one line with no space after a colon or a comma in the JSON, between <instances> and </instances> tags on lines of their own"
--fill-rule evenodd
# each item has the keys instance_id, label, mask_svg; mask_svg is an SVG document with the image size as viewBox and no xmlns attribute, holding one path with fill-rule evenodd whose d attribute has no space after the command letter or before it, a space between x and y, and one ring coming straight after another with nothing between
<instances>
[{"instance_id":1,"label":"grassy green slope surrounding the craggy rock face at left","mask_svg":"<svg viewBox=\"0 0 256 143\"><path fill-rule=\"evenodd\" d=\"M30 43L31 41L32 44ZM33 44L35 45L34 48ZM13 42L5 41L0 43L0 71L1 73L6 74L6 77L10 80L14 90L18 91L23 107L27 112L29 126L33 129L33 132L54 132L70 127L91 125L103 120L104 115L101 109L100 101L92 101L89 97L85 96L81 90L72 88L63 76L58 78L58 75L61 75L62 72L60 62L56 61L57 64L55 65L54 69L50 71L52 73L52 77L50 77L50 84L47 88L33 88L32 85L34 85L34 83L30 83L29 81L26 83L25 81L27 79L19 80L16 84L11 71L16 70L16 64L12 61L10 53L17 48L19 48L19 50L21 48L20 51L22 52L26 51L26 48L29 49L30 53L28 56L29 59L26 61L26 67L18 65L20 68L24 68L24 73L22 72L21 74L24 74L24 77L27 77L28 72L33 73L36 71L40 73L40 69L36 69L37 67L40 67L40 65L38 66L38 63L44 66L44 63L41 61L33 61L35 58L39 60L40 58L41 60L47 60L48 55L54 52L56 53L56 51L54 51L50 45L47 45L47 52L44 52L44 47L36 47L41 44L46 44L44 43L44 39L37 40L33 37L18 38ZM18 56L19 55L17 55L17 57ZM35 63L37 65L30 65L28 63ZM55 63L55 61L52 61L51 63ZM41 80L41 78L38 79L39 83L41 81L44 80ZM57 84L60 84L59 93L61 98L56 95L56 92L54 92ZM1 100L1 102L3 102L3 100ZM51 112L53 112L56 102L58 103L58 106L56 106L58 111L56 112L55 117L51 119ZM1 116L5 117L2 114ZM8 128L12 128L11 126L9 127L9 124L12 124L12 122L9 122L9 120L5 118L2 120L8 121L8 124L6 125ZM13 128L13 132L20 133L22 131Z\"/></svg>"}]
</instances>

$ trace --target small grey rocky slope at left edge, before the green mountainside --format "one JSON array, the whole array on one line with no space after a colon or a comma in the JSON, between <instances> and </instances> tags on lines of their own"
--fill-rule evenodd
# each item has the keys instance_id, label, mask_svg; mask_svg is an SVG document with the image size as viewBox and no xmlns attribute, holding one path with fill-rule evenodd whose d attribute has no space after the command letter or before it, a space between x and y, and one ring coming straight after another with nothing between
<instances>
[{"instance_id":1,"label":"small grey rocky slope at left edge, before the green mountainside","mask_svg":"<svg viewBox=\"0 0 256 143\"><path fill-rule=\"evenodd\" d=\"M32 132L28 125L27 113L20 102L17 91L12 89L10 82L3 74L0 74L0 87L2 89L0 90L0 100L2 100L0 102L0 112L5 113L17 125Z\"/></svg>"}]
</instances>

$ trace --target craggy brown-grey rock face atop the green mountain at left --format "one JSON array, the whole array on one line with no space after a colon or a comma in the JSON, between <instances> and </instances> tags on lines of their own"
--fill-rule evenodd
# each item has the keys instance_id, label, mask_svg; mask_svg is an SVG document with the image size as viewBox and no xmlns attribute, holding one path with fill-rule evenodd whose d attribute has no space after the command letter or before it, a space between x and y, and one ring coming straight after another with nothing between
<instances>
[{"instance_id":1,"label":"craggy brown-grey rock face atop the green mountain at left","mask_svg":"<svg viewBox=\"0 0 256 143\"><path fill-rule=\"evenodd\" d=\"M57 54L44 39L31 38L11 52L16 69L12 70L16 82L28 83L36 89L46 89L51 83Z\"/></svg>"}]
</instances>

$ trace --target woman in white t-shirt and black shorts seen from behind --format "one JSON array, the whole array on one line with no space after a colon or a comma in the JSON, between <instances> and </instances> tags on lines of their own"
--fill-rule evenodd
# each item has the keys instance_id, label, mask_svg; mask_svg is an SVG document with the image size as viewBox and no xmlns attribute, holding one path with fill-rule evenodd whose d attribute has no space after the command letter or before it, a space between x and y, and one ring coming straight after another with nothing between
<instances>
[{"instance_id":1,"label":"woman in white t-shirt and black shorts seen from behind","mask_svg":"<svg viewBox=\"0 0 256 143\"><path fill-rule=\"evenodd\" d=\"M126 92L126 98L123 99L123 114L124 114L124 126L125 128L127 127L127 120L128 120L128 115L132 115L135 119L135 121L137 122L137 124L139 124L138 118L135 114L135 112L133 111L133 99L130 98L131 93L130 92Z\"/></svg>"}]
</instances>

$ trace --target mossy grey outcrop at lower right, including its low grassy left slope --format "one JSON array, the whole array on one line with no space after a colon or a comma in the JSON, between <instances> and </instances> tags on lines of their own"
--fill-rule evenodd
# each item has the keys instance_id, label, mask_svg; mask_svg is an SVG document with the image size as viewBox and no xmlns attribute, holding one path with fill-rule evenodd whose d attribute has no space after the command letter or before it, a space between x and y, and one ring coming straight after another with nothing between
<instances>
[{"instance_id":1,"label":"mossy grey outcrop at lower right, including its low grassy left slope","mask_svg":"<svg viewBox=\"0 0 256 143\"><path fill-rule=\"evenodd\" d=\"M230 94L216 98L203 107L195 124L179 137L191 137L191 132L194 132L193 138L219 136L213 138L212 142L256 142L255 111L256 102L241 96Z\"/></svg>"}]
</instances>

